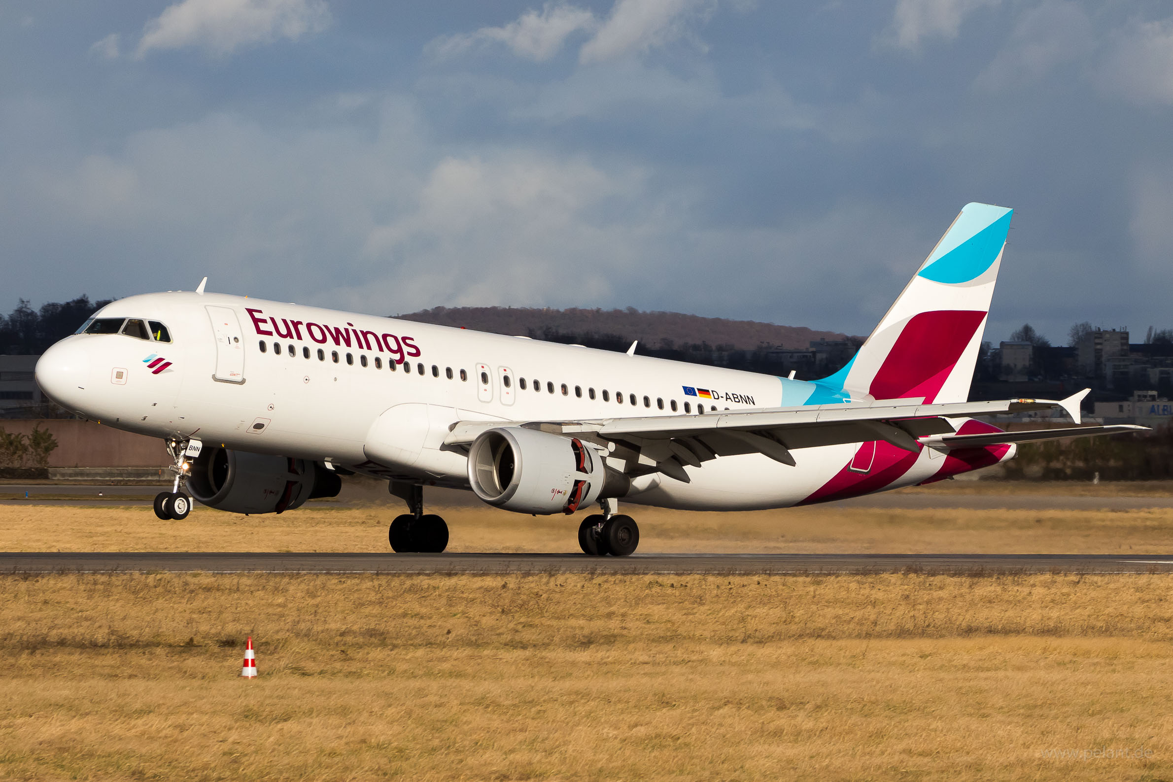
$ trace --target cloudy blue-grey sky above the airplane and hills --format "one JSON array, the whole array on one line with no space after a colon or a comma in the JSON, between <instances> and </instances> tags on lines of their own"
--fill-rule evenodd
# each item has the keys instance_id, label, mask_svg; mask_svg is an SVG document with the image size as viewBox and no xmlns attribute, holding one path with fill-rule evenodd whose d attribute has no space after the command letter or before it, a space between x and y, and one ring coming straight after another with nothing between
<instances>
[{"instance_id":1,"label":"cloudy blue-grey sky above the airplane and hills","mask_svg":"<svg viewBox=\"0 0 1173 782\"><path fill-rule=\"evenodd\" d=\"M1173 326L1173 11L0 5L0 310L192 288L868 333L970 200L988 339Z\"/></svg>"}]
</instances>

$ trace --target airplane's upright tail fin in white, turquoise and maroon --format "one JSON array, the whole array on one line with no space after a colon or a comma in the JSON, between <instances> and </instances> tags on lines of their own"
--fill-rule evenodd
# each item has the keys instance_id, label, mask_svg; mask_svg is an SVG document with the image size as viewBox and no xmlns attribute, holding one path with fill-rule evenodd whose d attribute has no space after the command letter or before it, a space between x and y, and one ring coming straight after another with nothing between
<instances>
[{"instance_id":1,"label":"airplane's upright tail fin in white, turquoise and maroon","mask_svg":"<svg viewBox=\"0 0 1173 782\"><path fill-rule=\"evenodd\" d=\"M1012 213L967 204L855 358L816 382L852 399L965 401Z\"/></svg>"}]
</instances>

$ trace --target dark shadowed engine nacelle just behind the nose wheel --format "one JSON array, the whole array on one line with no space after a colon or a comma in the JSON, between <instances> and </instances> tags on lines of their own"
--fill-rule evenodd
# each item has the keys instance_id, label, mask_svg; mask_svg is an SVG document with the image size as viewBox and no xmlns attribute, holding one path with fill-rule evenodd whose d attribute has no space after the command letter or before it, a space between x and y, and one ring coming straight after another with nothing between
<instances>
[{"instance_id":1,"label":"dark shadowed engine nacelle just behind the nose wheel","mask_svg":"<svg viewBox=\"0 0 1173 782\"><path fill-rule=\"evenodd\" d=\"M280 514L306 499L337 497L341 487L341 478L317 462L206 446L188 477L192 497L232 514Z\"/></svg>"}]
</instances>

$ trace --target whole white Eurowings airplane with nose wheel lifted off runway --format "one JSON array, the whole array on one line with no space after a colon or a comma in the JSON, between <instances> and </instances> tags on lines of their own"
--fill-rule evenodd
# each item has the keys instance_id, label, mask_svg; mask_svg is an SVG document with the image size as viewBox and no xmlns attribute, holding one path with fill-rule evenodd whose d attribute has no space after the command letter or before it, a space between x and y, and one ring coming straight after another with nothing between
<instances>
[{"instance_id":1,"label":"whole white Eurowings airplane with nose wheel lifted off runway","mask_svg":"<svg viewBox=\"0 0 1173 782\"><path fill-rule=\"evenodd\" d=\"M521 336L204 291L120 299L36 363L49 399L165 441L155 499L280 514L388 482L408 512L395 552L440 552L423 487L520 514L575 515L590 556L639 543L618 502L758 510L928 484L1011 460L1017 444L1145 429L1003 431L981 416L1064 400L970 402L1012 210L964 206L875 331L819 380L698 366ZM581 515L581 514L579 514Z\"/></svg>"}]
</instances>

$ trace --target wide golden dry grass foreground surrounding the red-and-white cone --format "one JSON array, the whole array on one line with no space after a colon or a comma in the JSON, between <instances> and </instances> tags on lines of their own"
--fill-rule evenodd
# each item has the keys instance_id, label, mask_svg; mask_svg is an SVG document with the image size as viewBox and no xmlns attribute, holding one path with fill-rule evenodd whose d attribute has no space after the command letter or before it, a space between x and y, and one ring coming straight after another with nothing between
<instances>
[{"instance_id":1,"label":"wide golden dry grass foreground surrounding the red-and-white cone","mask_svg":"<svg viewBox=\"0 0 1173 782\"><path fill-rule=\"evenodd\" d=\"M1171 586L6 576L0 777L1169 778Z\"/></svg>"}]
</instances>

